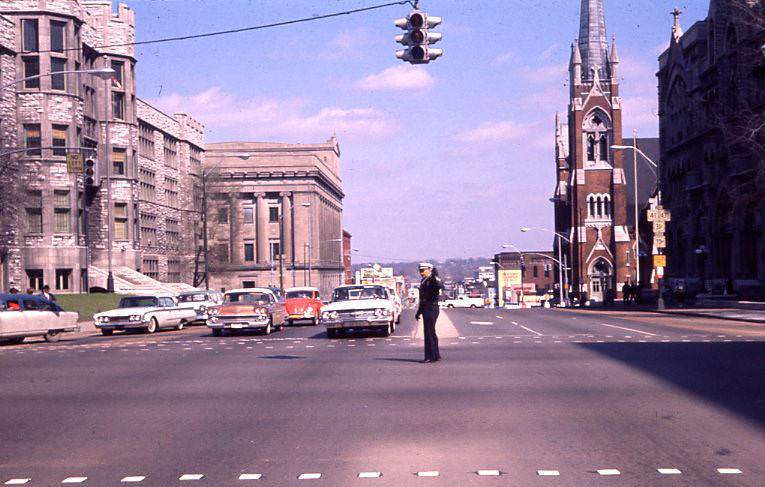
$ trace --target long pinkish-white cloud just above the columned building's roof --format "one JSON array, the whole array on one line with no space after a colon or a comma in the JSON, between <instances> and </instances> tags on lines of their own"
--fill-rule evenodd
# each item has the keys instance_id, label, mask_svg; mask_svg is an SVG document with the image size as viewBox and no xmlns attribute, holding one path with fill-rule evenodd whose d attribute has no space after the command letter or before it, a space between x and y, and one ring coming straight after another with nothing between
<instances>
[{"instance_id":1,"label":"long pinkish-white cloud just above the columned building's roof","mask_svg":"<svg viewBox=\"0 0 765 487\"><path fill-rule=\"evenodd\" d=\"M304 99L248 98L208 88L193 95L150 100L167 113L184 111L205 125L211 139L324 140L333 133L346 138L386 137L398 122L374 108L322 107L311 110Z\"/></svg>"}]
</instances>

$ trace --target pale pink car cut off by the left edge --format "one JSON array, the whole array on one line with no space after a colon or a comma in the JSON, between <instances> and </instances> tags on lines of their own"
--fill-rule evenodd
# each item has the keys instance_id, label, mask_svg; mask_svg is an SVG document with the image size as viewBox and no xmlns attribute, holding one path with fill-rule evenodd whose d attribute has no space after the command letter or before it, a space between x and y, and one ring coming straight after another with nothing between
<instances>
[{"instance_id":1,"label":"pale pink car cut off by the left edge","mask_svg":"<svg viewBox=\"0 0 765 487\"><path fill-rule=\"evenodd\" d=\"M57 342L64 333L79 331L79 317L41 296L0 294L0 343L16 345L33 336Z\"/></svg>"}]
</instances>

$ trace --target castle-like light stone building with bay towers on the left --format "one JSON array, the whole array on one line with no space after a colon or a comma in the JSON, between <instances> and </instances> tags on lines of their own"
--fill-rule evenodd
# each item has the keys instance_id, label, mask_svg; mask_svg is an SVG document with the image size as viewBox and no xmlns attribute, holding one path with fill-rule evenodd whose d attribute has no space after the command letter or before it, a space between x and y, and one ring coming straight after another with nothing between
<instances>
[{"instance_id":1,"label":"castle-like light stone building with bay towers on the left","mask_svg":"<svg viewBox=\"0 0 765 487\"><path fill-rule=\"evenodd\" d=\"M14 0L0 2L0 14L3 82L29 78L0 94L3 146L26 148L2 159L15 164L3 188L16 193L18 218L4 232L12 242L0 250L1 288L84 291L106 285L110 263L125 286L135 271L189 282L203 128L136 98L133 11L119 4L115 13L106 1ZM95 68L115 74L73 73ZM72 152L96 159L93 186L67 171Z\"/></svg>"}]
</instances>

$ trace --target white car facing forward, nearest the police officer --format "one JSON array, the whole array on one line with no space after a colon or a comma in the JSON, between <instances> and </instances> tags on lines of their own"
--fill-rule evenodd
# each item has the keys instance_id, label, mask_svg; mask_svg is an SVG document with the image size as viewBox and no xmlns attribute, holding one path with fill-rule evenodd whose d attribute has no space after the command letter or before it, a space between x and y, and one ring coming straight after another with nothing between
<instances>
[{"instance_id":1,"label":"white car facing forward, nearest the police officer","mask_svg":"<svg viewBox=\"0 0 765 487\"><path fill-rule=\"evenodd\" d=\"M327 336L335 338L348 330L377 330L389 336L396 329L396 316L389 290L380 285L340 286L332 301L322 308L321 322Z\"/></svg>"}]
</instances>

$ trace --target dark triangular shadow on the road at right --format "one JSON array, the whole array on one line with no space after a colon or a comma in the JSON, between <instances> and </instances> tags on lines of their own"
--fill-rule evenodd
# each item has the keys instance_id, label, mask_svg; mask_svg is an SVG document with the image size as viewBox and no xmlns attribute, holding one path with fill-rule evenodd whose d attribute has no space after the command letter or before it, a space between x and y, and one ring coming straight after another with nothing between
<instances>
[{"instance_id":1,"label":"dark triangular shadow on the road at right","mask_svg":"<svg viewBox=\"0 0 765 487\"><path fill-rule=\"evenodd\" d=\"M765 342L577 345L765 425Z\"/></svg>"}]
</instances>

